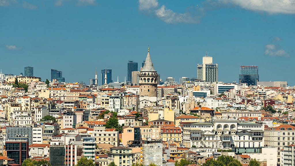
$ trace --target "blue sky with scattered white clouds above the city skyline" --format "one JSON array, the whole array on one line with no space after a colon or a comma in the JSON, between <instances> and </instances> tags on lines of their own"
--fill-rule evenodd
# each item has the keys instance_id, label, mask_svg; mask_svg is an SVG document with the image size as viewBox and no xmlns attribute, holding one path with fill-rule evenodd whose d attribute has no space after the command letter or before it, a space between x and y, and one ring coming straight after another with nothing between
<instances>
[{"instance_id":1,"label":"blue sky with scattered white clouds above the city skyline","mask_svg":"<svg viewBox=\"0 0 295 166\"><path fill-rule=\"evenodd\" d=\"M295 0L0 0L0 68L32 66L43 81L52 68L87 84L107 68L124 81L150 45L161 79L196 77L208 51L218 81L238 82L239 66L253 65L260 81L294 86L294 14Z\"/></svg>"}]
</instances>

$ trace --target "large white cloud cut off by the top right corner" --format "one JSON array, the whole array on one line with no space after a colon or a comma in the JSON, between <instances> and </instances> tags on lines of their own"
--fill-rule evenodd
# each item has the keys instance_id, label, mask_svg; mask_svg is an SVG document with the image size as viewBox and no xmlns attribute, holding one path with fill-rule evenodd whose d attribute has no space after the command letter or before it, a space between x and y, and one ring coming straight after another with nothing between
<instances>
[{"instance_id":1,"label":"large white cloud cut off by the top right corner","mask_svg":"<svg viewBox=\"0 0 295 166\"><path fill-rule=\"evenodd\" d=\"M238 5L241 8L268 12L270 14L295 14L295 0L219 0L225 4Z\"/></svg>"}]
</instances>

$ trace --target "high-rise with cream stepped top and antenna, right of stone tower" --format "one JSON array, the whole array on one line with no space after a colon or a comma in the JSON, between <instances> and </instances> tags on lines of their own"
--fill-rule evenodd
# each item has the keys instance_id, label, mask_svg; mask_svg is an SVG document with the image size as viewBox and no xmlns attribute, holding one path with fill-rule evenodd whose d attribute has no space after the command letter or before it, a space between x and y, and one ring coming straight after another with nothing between
<instances>
[{"instance_id":1,"label":"high-rise with cream stepped top and antenna, right of stone tower","mask_svg":"<svg viewBox=\"0 0 295 166\"><path fill-rule=\"evenodd\" d=\"M217 82L217 64L212 64L212 57L203 56L203 63L197 64L197 79L207 82Z\"/></svg>"}]
</instances>

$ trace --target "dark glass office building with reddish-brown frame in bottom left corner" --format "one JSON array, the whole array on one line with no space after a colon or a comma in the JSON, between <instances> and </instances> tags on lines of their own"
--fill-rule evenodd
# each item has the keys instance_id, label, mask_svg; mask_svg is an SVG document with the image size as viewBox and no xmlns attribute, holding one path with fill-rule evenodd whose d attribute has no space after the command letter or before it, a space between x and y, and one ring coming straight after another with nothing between
<instances>
[{"instance_id":1,"label":"dark glass office building with reddish-brown frame in bottom left corner","mask_svg":"<svg viewBox=\"0 0 295 166\"><path fill-rule=\"evenodd\" d=\"M22 165L22 162L29 157L29 139L25 137L9 138L5 142L7 158L13 159L15 164Z\"/></svg>"}]
</instances>

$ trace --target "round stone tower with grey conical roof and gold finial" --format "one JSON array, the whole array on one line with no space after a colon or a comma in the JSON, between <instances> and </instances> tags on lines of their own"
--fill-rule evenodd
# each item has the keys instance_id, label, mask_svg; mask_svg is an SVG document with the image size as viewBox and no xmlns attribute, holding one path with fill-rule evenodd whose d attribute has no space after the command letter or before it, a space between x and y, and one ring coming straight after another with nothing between
<instances>
[{"instance_id":1,"label":"round stone tower with grey conical roof and gold finial","mask_svg":"<svg viewBox=\"0 0 295 166\"><path fill-rule=\"evenodd\" d=\"M158 74L150 58L150 48L145 64L140 68L139 96L157 97Z\"/></svg>"}]
</instances>

